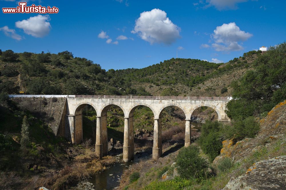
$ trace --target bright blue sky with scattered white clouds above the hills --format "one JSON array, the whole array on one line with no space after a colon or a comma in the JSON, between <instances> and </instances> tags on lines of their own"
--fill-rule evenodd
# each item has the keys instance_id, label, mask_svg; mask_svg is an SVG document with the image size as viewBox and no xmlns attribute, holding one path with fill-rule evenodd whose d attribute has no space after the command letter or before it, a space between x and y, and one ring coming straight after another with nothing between
<instances>
[{"instance_id":1,"label":"bright blue sky with scattered white clouds above the hills","mask_svg":"<svg viewBox=\"0 0 286 190\"><path fill-rule=\"evenodd\" d=\"M86 2L86 3L85 3ZM102 68L144 68L176 57L227 62L286 39L286 1L28 1L57 14L0 13L0 49L71 51ZM18 1L0 0L1 8ZM142 13L142 14L140 14Z\"/></svg>"}]
</instances>

